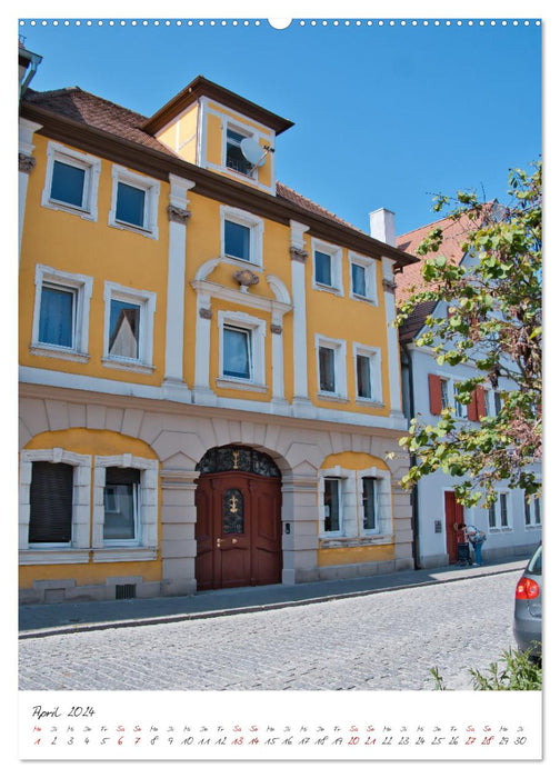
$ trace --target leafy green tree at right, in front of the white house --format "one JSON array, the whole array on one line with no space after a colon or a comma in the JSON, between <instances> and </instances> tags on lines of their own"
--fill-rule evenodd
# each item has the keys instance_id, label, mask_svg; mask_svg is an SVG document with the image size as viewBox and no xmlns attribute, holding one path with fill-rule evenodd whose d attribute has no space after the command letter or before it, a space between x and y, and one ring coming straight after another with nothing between
<instances>
[{"instance_id":1,"label":"leafy green tree at right, in front of the white house","mask_svg":"<svg viewBox=\"0 0 560 778\"><path fill-rule=\"evenodd\" d=\"M421 302L447 303L446 315L427 318L416 342L430 347L440 365L476 368L472 378L456 383L460 402L468 405L477 387L514 382L501 392L497 416L471 423L446 408L434 426L412 419L400 441L413 457L403 486L441 469L458 478L463 505L493 502L501 480L528 495L540 492L530 466L540 460L542 431L541 162L529 172L510 170L508 194L508 206L487 203L472 191L434 198L436 212L468 222L461 250L471 261L434 256L443 238L436 227L418 249L431 255L423 261L423 283L396 321L401 325Z\"/></svg>"}]
</instances>

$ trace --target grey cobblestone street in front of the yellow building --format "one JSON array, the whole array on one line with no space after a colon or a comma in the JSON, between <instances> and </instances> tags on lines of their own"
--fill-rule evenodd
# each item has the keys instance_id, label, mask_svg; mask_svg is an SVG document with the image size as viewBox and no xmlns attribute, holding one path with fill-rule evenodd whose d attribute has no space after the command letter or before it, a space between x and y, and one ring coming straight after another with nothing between
<instances>
[{"instance_id":1,"label":"grey cobblestone street in front of the yellow building","mask_svg":"<svg viewBox=\"0 0 560 778\"><path fill-rule=\"evenodd\" d=\"M514 647L517 571L176 624L21 640L20 689L471 689Z\"/></svg>"}]
</instances>

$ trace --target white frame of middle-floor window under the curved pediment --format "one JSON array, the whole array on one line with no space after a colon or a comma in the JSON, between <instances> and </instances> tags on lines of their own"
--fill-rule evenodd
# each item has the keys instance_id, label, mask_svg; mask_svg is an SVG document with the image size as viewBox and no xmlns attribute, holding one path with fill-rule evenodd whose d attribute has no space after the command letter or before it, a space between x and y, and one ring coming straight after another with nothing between
<instances>
[{"instance_id":1,"label":"white frame of middle-floor window under the curved pediment","mask_svg":"<svg viewBox=\"0 0 560 778\"><path fill-rule=\"evenodd\" d=\"M236 327L237 329L247 330L251 339L250 347L250 378L237 378L226 376L223 372L223 330L226 327ZM219 365L220 375L217 379L219 387L226 388L246 388L253 390L266 391L266 338L267 322L263 319L258 319L242 311L218 311L218 330L219 330Z\"/></svg>"}]
</instances>

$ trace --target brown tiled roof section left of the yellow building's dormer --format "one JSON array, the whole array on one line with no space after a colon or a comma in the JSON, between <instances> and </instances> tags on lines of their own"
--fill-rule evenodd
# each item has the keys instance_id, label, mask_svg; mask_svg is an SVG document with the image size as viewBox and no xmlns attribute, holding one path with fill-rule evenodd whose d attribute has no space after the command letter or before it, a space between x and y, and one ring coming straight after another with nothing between
<instances>
[{"instance_id":1,"label":"brown tiled roof section left of the yellow building's dormer","mask_svg":"<svg viewBox=\"0 0 560 778\"><path fill-rule=\"evenodd\" d=\"M146 121L141 113L84 92L80 87L67 87L49 92L36 92L30 89L26 93L26 102L177 158L169 147L140 129Z\"/></svg>"}]
</instances>

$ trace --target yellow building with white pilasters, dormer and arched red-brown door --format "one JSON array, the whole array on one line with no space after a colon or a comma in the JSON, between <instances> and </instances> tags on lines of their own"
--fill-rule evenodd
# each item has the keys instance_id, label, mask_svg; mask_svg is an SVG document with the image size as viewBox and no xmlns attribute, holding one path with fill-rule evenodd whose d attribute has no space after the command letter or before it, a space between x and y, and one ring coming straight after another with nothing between
<instances>
[{"instance_id":1,"label":"yellow building with white pilasters, dormer and arched red-brown door","mask_svg":"<svg viewBox=\"0 0 560 778\"><path fill-rule=\"evenodd\" d=\"M290 127L202 77L150 118L21 98L23 602L412 567L416 260L276 180Z\"/></svg>"}]
</instances>

